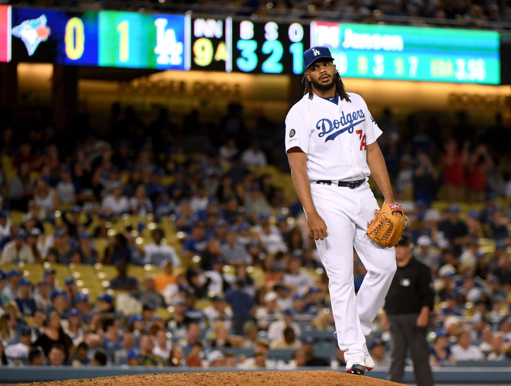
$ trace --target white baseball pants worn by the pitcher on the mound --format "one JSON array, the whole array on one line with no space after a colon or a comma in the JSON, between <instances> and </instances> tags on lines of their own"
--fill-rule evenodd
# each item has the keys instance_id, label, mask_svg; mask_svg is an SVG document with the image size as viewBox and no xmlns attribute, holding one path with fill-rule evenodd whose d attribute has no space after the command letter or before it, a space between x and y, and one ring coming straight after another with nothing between
<instances>
[{"instance_id":1,"label":"white baseball pants worn by the pitcher on the mound","mask_svg":"<svg viewBox=\"0 0 511 386\"><path fill-rule=\"evenodd\" d=\"M374 210L379 208L367 182L355 189L311 183L311 194L327 224L328 237L317 240L316 247L329 277L337 343L344 359L365 357L365 336L371 332L396 273L396 253L394 248L382 248L365 235L367 222L374 219ZM357 296L354 247L367 270Z\"/></svg>"}]
</instances>

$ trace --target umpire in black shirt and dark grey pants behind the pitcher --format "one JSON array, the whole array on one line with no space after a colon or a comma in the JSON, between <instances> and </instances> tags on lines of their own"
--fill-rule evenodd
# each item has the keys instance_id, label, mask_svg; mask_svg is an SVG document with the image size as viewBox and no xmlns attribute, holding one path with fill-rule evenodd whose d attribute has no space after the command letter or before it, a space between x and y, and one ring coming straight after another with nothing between
<instances>
[{"instance_id":1,"label":"umpire in black shirt and dark grey pants behind the pitcher","mask_svg":"<svg viewBox=\"0 0 511 386\"><path fill-rule=\"evenodd\" d=\"M382 327L388 326L392 339L387 379L402 382L406 351L410 349L417 386L432 386L426 333L434 302L433 285L429 268L412 257L412 249L409 237L403 235L396 247L398 270L385 298Z\"/></svg>"}]
</instances>

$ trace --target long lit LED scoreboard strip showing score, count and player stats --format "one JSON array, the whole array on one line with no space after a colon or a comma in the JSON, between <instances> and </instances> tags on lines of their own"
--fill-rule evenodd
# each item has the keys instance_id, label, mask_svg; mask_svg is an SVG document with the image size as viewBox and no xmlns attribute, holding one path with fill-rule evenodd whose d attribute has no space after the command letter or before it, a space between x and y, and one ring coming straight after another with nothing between
<instances>
[{"instance_id":1,"label":"long lit LED scoreboard strip showing score, count and player stats","mask_svg":"<svg viewBox=\"0 0 511 386\"><path fill-rule=\"evenodd\" d=\"M500 83L495 31L0 5L1 62L298 75L313 45L343 77Z\"/></svg>"}]
</instances>

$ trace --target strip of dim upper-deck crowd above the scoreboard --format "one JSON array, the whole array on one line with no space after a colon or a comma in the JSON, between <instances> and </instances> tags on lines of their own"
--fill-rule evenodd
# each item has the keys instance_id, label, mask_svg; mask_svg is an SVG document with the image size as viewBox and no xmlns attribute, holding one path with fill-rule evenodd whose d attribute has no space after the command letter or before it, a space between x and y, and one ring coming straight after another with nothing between
<instances>
[{"instance_id":1,"label":"strip of dim upper-deck crowd above the scoreboard","mask_svg":"<svg viewBox=\"0 0 511 386\"><path fill-rule=\"evenodd\" d=\"M95 9L119 8L137 10L166 10L183 12L193 9L212 14L247 16L253 13L261 17L314 17L342 15L354 21L370 22L380 16L421 17L437 20L456 20L458 26L492 28L492 23L511 21L511 4L505 0L200 0L165 1L139 0L120 2L103 0L99 2L77 2L61 0L12 0L2 3L43 6L87 6ZM403 22L412 20L403 18Z\"/></svg>"}]
</instances>

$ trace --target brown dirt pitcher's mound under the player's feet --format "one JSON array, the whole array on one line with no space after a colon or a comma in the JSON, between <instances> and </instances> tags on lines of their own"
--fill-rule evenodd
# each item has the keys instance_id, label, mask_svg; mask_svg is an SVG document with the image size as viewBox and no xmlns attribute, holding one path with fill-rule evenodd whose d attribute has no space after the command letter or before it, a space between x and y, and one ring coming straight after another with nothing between
<instances>
[{"instance_id":1,"label":"brown dirt pitcher's mound under the player's feet","mask_svg":"<svg viewBox=\"0 0 511 386\"><path fill-rule=\"evenodd\" d=\"M396 386L401 383L337 371L212 371L123 375L31 383L37 386Z\"/></svg>"}]
</instances>

